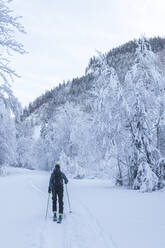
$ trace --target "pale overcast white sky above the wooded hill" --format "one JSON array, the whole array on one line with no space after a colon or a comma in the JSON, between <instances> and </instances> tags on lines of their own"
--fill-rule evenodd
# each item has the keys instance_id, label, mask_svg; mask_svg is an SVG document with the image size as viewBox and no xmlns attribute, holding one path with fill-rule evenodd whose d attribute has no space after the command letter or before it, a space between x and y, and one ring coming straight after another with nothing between
<instances>
[{"instance_id":1,"label":"pale overcast white sky above the wooded hill","mask_svg":"<svg viewBox=\"0 0 165 248\"><path fill-rule=\"evenodd\" d=\"M27 31L18 38L29 54L11 58L23 105L83 75L95 50L107 52L142 34L164 36L164 0L13 0L10 8Z\"/></svg>"}]
</instances>

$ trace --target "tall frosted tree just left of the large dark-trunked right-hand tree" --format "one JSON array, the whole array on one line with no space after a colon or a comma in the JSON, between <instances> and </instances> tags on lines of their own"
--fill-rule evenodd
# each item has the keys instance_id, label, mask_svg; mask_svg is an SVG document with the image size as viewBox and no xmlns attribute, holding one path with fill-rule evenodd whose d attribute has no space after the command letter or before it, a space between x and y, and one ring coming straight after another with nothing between
<instances>
[{"instance_id":1,"label":"tall frosted tree just left of the large dark-trunked right-hand tree","mask_svg":"<svg viewBox=\"0 0 165 248\"><path fill-rule=\"evenodd\" d=\"M112 160L117 164L117 143L120 129L120 83L115 70L109 67L106 57L99 53L97 58L96 82L90 94L92 96L92 126L90 139L92 151L95 152L97 174L109 175ZM94 149L95 148L95 149ZM114 162L116 161L116 162Z\"/></svg>"}]
</instances>

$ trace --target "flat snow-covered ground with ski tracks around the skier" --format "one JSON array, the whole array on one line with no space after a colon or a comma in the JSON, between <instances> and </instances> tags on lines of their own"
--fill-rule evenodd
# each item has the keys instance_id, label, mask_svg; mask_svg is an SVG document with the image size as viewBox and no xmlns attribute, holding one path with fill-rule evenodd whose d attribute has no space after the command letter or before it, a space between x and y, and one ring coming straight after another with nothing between
<instances>
[{"instance_id":1,"label":"flat snow-covered ground with ski tracks around the skier","mask_svg":"<svg viewBox=\"0 0 165 248\"><path fill-rule=\"evenodd\" d=\"M110 182L72 180L73 213L45 221L49 174L20 169L0 178L2 248L164 248L165 192L139 193ZM50 202L51 203L51 202Z\"/></svg>"}]
</instances>

